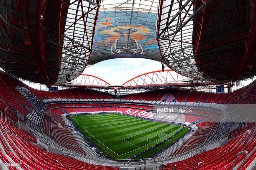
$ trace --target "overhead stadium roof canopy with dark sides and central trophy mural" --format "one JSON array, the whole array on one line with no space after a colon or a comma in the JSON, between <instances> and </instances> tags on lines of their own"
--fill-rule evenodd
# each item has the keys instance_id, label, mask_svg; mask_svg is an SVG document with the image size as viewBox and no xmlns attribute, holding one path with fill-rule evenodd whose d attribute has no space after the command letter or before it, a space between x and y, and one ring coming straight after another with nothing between
<instances>
[{"instance_id":1,"label":"overhead stadium roof canopy with dark sides and central trophy mural","mask_svg":"<svg viewBox=\"0 0 256 170\"><path fill-rule=\"evenodd\" d=\"M120 57L162 61L196 80L255 76L255 1L0 2L0 66L46 85Z\"/></svg>"}]
</instances>

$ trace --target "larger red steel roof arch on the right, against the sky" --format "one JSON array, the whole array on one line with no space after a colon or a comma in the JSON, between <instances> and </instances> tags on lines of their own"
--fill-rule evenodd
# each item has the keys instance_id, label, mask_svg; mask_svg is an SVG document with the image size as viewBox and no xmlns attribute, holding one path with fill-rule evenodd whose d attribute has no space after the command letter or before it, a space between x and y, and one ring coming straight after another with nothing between
<instances>
[{"instance_id":1,"label":"larger red steel roof arch on the right, against the sky","mask_svg":"<svg viewBox=\"0 0 256 170\"><path fill-rule=\"evenodd\" d=\"M175 73L175 75L173 75L172 73ZM138 75L123 83L122 85L137 86L166 84L170 82L177 83L178 78L180 78L180 80L184 80L184 78L186 79L186 77L176 73L173 70L164 70L164 72L162 72L162 70L158 70Z\"/></svg>"}]
</instances>

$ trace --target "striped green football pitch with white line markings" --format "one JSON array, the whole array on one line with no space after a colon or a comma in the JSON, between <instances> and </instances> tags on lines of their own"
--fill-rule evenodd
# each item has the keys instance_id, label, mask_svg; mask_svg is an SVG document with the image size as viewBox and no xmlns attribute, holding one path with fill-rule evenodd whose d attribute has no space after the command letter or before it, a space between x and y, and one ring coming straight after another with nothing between
<instances>
[{"instance_id":1,"label":"striped green football pitch with white line markings","mask_svg":"<svg viewBox=\"0 0 256 170\"><path fill-rule=\"evenodd\" d=\"M72 116L72 122L103 152L126 159L171 137L182 126L121 114Z\"/></svg>"}]
</instances>

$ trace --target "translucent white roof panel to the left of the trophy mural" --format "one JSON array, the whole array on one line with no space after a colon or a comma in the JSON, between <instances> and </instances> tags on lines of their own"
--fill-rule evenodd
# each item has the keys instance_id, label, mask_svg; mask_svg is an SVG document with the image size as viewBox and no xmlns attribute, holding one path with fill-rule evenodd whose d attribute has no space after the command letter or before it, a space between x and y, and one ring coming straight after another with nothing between
<instances>
[{"instance_id":1,"label":"translucent white roof panel to the left of the trophy mural","mask_svg":"<svg viewBox=\"0 0 256 170\"><path fill-rule=\"evenodd\" d=\"M69 4L64 34L59 78L56 84L73 80L86 67L92 51L95 18L99 6L89 2L74 1ZM68 76L67 76L68 75Z\"/></svg>"}]
</instances>

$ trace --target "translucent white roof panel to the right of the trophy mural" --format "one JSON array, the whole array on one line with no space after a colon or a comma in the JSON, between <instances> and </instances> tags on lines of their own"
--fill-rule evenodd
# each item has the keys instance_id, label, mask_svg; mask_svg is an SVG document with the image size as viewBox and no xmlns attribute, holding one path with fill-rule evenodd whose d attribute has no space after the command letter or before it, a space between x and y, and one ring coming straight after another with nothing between
<instances>
[{"instance_id":1,"label":"translucent white roof panel to the right of the trophy mural","mask_svg":"<svg viewBox=\"0 0 256 170\"><path fill-rule=\"evenodd\" d=\"M193 20L197 14L191 1L164 0L159 6L158 40L164 62L178 73L204 80L194 55Z\"/></svg>"}]
</instances>

